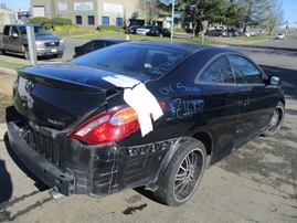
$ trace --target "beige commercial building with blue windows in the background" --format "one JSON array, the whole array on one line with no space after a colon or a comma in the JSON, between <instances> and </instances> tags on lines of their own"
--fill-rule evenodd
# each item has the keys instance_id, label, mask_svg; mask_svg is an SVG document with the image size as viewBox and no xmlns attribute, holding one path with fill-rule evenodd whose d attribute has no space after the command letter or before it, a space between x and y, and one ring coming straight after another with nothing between
<instances>
[{"instance_id":1,"label":"beige commercial building with blue windows in the background","mask_svg":"<svg viewBox=\"0 0 297 223\"><path fill-rule=\"evenodd\" d=\"M139 11L138 4L139 0L87 0L83 2L76 0L31 0L31 10L32 18L62 17L71 19L73 24L78 28L96 29L102 24L145 24L145 17ZM162 23L162 21L160 22Z\"/></svg>"}]
</instances>

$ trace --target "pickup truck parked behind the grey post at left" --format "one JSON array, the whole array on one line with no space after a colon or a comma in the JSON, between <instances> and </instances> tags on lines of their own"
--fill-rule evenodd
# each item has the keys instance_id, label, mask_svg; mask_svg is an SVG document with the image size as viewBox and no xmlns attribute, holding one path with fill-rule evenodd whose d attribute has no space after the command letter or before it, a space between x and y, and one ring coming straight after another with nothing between
<instances>
[{"instance_id":1,"label":"pickup truck parked behind the grey post at left","mask_svg":"<svg viewBox=\"0 0 297 223\"><path fill-rule=\"evenodd\" d=\"M39 24L7 24L3 33L0 34L0 53L7 52L20 53L29 60L29 46L26 38L26 26L33 26L36 45L36 56L52 55L61 59L65 45L64 41L52 35Z\"/></svg>"}]
</instances>

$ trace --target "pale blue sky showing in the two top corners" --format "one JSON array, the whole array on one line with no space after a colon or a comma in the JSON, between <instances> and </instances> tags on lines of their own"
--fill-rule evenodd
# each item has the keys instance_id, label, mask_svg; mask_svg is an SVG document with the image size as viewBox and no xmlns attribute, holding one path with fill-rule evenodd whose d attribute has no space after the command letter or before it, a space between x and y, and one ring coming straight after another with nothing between
<instances>
[{"instance_id":1,"label":"pale blue sky showing in the two top corners","mask_svg":"<svg viewBox=\"0 0 297 223\"><path fill-rule=\"evenodd\" d=\"M30 0L0 0L0 2L13 11L19 11L20 8L24 11L30 9ZM285 20L290 23L289 26L297 28L297 0L283 0L283 9L285 10Z\"/></svg>"}]
</instances>

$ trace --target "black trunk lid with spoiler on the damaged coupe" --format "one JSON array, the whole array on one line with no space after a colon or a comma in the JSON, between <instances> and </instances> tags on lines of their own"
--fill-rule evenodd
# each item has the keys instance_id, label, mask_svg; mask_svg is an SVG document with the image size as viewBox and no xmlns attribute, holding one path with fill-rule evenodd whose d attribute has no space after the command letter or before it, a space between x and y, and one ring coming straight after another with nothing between
<instances>
[{"instance_id":1,"label":"black trunk lid with spoiler on the damaged coupe","mask_svg":"<svg viewBox=\"0 0 297 223\"><path fill-rule=\"evenodd\" d=\"M104 79L117 73L72 63L28 66L18 74L13 86L17 110L36 125L60 130L106 112L108 99L123 93L121 87Z\"/></svg>"}]
</instances>

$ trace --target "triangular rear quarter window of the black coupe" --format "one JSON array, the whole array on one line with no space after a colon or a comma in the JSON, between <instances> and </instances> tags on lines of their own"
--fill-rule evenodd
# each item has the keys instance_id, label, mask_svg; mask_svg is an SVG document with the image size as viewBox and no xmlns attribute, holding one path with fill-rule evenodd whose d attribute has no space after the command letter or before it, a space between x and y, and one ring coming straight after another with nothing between
<instances>
[{"instance_id":1,"label":"triangular rear quarter window of the black coupe","mask_svg":"<svg viewBox=\"0 0 297 223\"><path fill-rule=\"evenodd\" d=\"M234 83L234 76L226 55L215 59L200 75L202 82Z\"/></svg>"}]
</instances>

